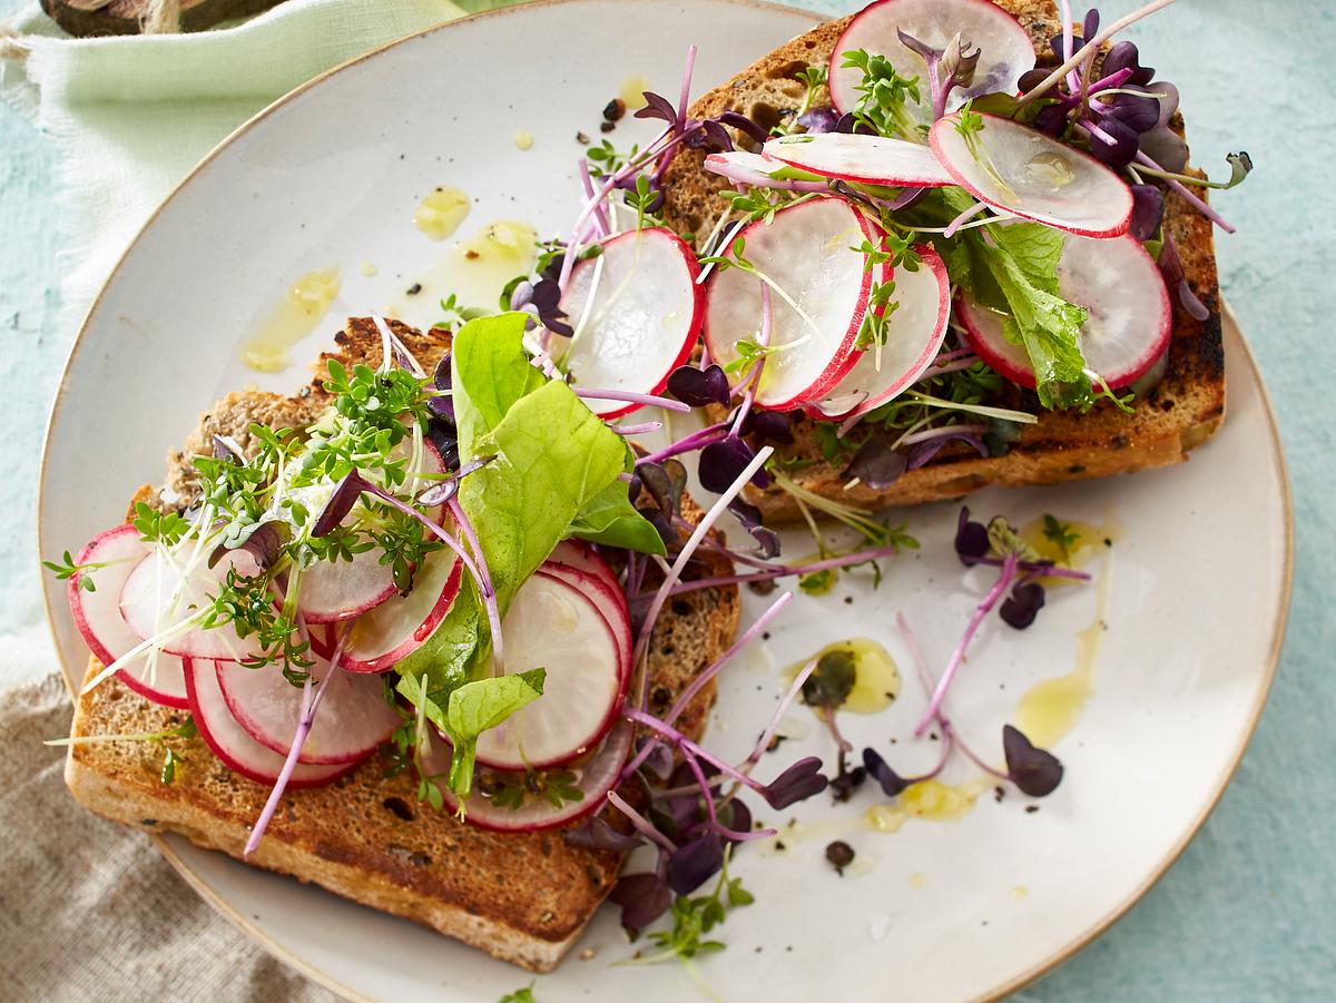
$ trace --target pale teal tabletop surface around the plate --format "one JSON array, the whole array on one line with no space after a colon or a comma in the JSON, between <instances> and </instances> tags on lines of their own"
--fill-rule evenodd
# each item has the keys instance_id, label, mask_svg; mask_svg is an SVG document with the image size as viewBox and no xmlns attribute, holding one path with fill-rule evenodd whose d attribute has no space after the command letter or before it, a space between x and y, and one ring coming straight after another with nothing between
<instances>
[{"instance_id":1,"label":"pale teal tabletop surface around the plate","mask_svg":"<svg viewBox=\"0 0 1336 1003\"><path fill-rule=\"evenodd\" d=\"M860 4L806 5L844 13ZM0 16L17 7L0 0ZM1108 21L1134 7L1117 0L1101 11ZM1144 64L1178 84L1198 166L1222 176L1225 154L1238 148L1256 163L1242 188L1216 198L1238 227L1218 234L1217 247L1221 284L1257 354L1289 458L1293 605L1261 725L1201 833L1121 923L1017 999L1333 999L1336 3L1180 0L1126 37ZM0 512L11 518L0 533L0 634L40 616L37 461L75 335L56 325L53 168L43 136L0 106ZM1210 601L1210 584L1185 601Z\"/></svg>"}]
</instances>

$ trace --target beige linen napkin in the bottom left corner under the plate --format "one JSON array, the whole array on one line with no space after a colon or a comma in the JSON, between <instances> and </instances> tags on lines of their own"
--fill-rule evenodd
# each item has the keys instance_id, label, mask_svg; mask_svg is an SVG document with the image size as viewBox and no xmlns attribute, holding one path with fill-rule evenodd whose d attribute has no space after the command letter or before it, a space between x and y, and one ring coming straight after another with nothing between
<instances>
[{"instance_id":1,"label":"beige linen napkin in the bottom left corner under the plate","mask_svg":"<svg viewBox=\"0 0 1336 1003\"><path fill-rule=\"evenodd\" d=\"M327 1003L232 928L148 836L96 819L61 780L59 677L0 704L0 1000Z\"/></svg>"}]
</instances>

